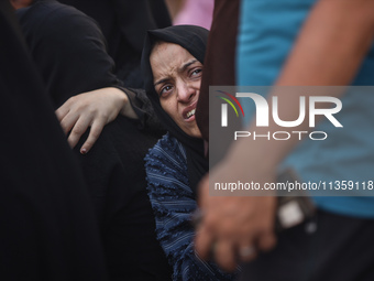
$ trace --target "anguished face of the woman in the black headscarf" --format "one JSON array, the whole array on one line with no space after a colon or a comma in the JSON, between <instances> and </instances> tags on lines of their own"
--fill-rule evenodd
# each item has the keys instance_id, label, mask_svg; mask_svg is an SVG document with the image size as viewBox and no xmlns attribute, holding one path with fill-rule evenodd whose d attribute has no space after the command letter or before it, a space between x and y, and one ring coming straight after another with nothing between
<instances>
[{"instance_id":1,"label":"anguished face of the woman in the black headscarf","mask_svg":"<svg viewBox=\"0 0 374 281\"><path fill-rule=\"evenodd\" d=\"M153 83L162 108L188 136L201 138L195 120L202 64L173 43L156 43L152 50Z\"/></svg>"}]
</instances>

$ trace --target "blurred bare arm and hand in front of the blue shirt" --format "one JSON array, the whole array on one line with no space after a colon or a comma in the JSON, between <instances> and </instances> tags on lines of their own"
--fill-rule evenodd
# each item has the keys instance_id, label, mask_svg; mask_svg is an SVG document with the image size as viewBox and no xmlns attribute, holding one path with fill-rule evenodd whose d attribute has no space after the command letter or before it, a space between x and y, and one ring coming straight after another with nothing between
<instances>
[{"instance_id":1,"label":"blurred bare arm and hand in front of the blue shirt","mask_svg":"<svg viewBox=\"0 0 374 281\"><path fill-rule=\"evenodd\" d=\"M276 85L349 85L373 41L373 11L372 0L320 0L310 12ZM294 120L292 118L298 115L298 98L295 94L283 94L282 100L285 105L280 107L288 114L284 119ZM273 123L266 130L276 129ZM307 131L308 123L301 123L298 129ZM251 130L253 125L250 125ZM235 177L258 183L274 181L277 165L297 142L297 139L252 141L251 145L248 141L237 142L227 159L211 171L210 181ZM262 153L264 151L266 153ZM234 269L235 253L240 249L266 250L274 246L275 198L209 196L207 180L200 187L200 206L206 214L196 239L200 256L207 258L216 241L218 263ZM248 261L254 257L253 253L240 258Z\"/></svg>"}]
</instances>

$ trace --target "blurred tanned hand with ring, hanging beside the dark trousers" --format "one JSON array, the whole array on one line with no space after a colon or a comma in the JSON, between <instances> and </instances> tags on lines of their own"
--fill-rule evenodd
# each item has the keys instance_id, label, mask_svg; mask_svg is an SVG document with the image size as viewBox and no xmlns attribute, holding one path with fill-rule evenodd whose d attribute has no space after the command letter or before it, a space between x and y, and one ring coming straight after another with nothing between
<instances>
[{"instance_id":1,"label":"blurred tanned hand with ring, hanging beside the dark trousers","mask_svg":"<svg viewBox=\"0 0 374 281\"><path fill-rule=\"evenodd\" d=\"M195 247L201 258L213 257L222 269L231 271L239 261L252 261L260 251L275 246L274 198L212 197L201 190L200 196L205 217Z\"/></svg>"}]
</instances>

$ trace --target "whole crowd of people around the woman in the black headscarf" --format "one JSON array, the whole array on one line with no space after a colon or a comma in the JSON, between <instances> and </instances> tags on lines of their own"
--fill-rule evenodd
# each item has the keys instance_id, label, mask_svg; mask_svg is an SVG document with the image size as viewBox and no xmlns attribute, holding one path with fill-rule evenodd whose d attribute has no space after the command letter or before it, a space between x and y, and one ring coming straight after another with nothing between
<instances>
[{"instance_id":1,"label":"whole crowd of people around the woman in the black headscarf","mask_svg":"<svg viewBox=\"0 0 374 281\"><path fill-rule=\"evenodd\" d=\"M279 233L277 196L209 192L275 182L280 166L373 184L367 91L320 94L344 107L344 130L317 125L323 141L240 140L212 167L209 86L273 86L267 100L371 86L374 1L185 0L174 21L169 9L0 2L2 280L374 280L374 194L310 194L312 216ZM294 120L316 93L280 95ZM245 130L264 133L242 104Z\"/></svg>"}]
</instances>

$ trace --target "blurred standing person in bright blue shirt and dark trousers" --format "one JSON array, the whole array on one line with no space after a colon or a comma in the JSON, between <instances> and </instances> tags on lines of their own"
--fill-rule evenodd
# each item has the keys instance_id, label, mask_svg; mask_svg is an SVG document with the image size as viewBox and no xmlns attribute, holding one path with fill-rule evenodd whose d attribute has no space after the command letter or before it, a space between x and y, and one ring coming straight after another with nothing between
<instances>
[{"instance_id":1,"label":"blurred standing person in bright blue shirt and dark trousers","mask_svg":"<svg viewBox=\"0 0 374 281\"><path fill-rule=\"evenodd\" d=\"M238 84L373 85L373 3L243 0ZM367 95L334 95L346 108L340 118L344 126L354 128L354 133L331 130L327 141L304 141L298 148L294 141L253 141L252 145L239 142L210 172L209 181L248 179L270 183L275 181L280 163L293 166L301 180L371 180L374 130L369 120L374 119L373 100ZM294 120L298 96L282 98L285 105L279 110ZM326 122L319 126L326 128ZM233 269L240 261L252 261L243 267L241 280L373 279L373 197L314 197L318 208L314 227L305 221L284 231L275 246L275 197L217 197L209 196L208 190L206 179L200 196L205 218L197 234L197 251L207 258L215 244L215 260L226 269Z\"/></svg>"}]
</instances>

